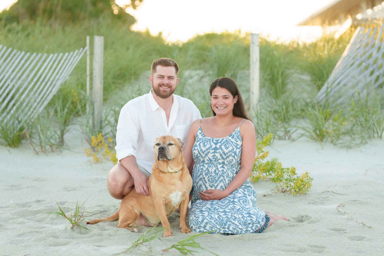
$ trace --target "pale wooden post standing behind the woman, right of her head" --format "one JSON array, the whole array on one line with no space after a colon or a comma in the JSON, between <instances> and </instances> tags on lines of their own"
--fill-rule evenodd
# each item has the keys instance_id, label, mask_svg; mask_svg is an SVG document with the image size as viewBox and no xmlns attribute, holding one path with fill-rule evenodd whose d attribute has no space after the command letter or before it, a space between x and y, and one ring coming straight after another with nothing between
<instances>
[{"instance_id":1,"label":"pale wooden post standing behind the woman, right of her head","mask_svg":"<svg viewBox=\"0 0 384 256\"><path fill-rule=\"evenodd\" d=\"M250 111L257 107L260 88L260 45L259 34L251 34L250 38Z\"/></svg>"}]
</instances>

